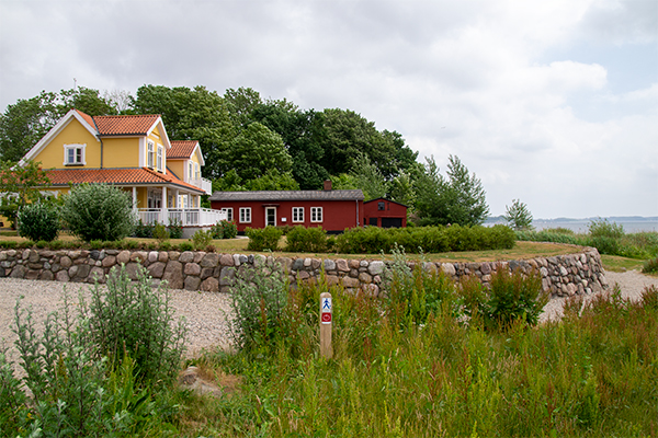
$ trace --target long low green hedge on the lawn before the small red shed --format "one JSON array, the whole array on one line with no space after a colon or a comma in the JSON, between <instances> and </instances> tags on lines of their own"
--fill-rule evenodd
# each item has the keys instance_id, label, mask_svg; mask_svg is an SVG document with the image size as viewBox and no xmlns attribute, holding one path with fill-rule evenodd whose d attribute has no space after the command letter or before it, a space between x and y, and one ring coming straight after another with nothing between
<instances>
[{"instance_id":1,"label":"long low green hedge on the lawn before the small red shed","mask_svg":"<svg viewBox=\"0 0 658 438\"><path fill-rule=\"evenodd\" d=\"M514 245L514 232L504 226L365 227L345 230L336 238L336 250L343 254L377 254L390 252L396 245L409 253L511 249Z\"/></svg>"}]
</instances>

